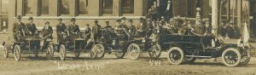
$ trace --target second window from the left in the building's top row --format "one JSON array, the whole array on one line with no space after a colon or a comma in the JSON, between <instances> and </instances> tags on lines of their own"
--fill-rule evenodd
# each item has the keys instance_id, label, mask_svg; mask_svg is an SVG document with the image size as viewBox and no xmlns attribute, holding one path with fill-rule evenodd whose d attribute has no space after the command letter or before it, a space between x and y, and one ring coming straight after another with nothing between
<instances>
[{"instance_id":1,"label":"second window from the left in the building's top row","mask_svg":"<svg viewBox=\"0 0 256 75\"><path fill-rule=\"evenodd\" d=\"M39 0L40 14L49 14L49 0Z\"/></svg>"}]
</instances>

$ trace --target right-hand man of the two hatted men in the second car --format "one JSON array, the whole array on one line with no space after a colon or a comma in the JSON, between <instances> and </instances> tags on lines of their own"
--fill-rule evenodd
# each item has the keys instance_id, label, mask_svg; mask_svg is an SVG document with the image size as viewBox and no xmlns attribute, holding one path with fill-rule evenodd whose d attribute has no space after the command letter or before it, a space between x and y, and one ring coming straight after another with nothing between
<instances>
[{"instance_id":1,"label":"right-hand man of the two hatted men in the second car","mask_svg":"<svg viewBox=\"0 0 256 75\"><path fill-rule=\"evenodd\" d=\"M72 36L73 34L78 35L80 32L79 26L76 25L76 20L74 18L71 19L71 25L67 26L67 34Z\"/></svg>"}]
</instances>

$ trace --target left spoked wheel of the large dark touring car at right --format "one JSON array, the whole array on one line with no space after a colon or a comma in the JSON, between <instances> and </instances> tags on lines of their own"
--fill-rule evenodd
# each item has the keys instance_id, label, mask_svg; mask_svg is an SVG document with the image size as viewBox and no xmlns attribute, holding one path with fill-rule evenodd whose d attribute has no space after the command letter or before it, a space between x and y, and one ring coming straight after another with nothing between
<instances>
[{"instance_id":1,"label":"left spoked wheel of the large dark touring car at right","mask_svg":"<svg viewBox=\"0 0 256 75\"><path fill-rule=\"evenodd\" d=\"M184 53L183 49L180 49L178 47L172 47L167 52L168 56L167 59L171 64L173 65L180 65L183 63L184 60Z\"/></svg>"}]
</instances>

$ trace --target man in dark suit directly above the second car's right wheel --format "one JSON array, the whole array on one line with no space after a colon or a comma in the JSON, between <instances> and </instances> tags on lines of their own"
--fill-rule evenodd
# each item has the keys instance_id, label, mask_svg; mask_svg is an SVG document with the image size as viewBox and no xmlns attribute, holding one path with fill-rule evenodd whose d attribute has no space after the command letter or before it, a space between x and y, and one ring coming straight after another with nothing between
<instances>
[{"instance_id":1,"label":"man in dark suit directly above the second car's right wheel","mask_svg":"<svg viewBox=\"0 0 256 75\"><path fill-rule=\"evenodd\" d=\"M93 40L95 42L100 42L100 37L101 37L101 28L102 26L100 26L98 23L99 21L98 20L95 20L94 21L95 25L92 26L92 37L93 37Z\"/></svg>"}]
</instances>

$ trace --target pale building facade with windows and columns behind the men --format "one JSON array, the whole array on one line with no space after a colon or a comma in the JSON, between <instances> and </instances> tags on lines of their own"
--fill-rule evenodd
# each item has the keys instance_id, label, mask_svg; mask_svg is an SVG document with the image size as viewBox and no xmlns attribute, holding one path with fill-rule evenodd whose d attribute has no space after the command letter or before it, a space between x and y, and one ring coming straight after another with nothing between
<instances>
[{"instance_id":1,"label":"pale building facade with windows and columns behind the men","mask_svg":"<svg viewBox=\"0 0 256 75\"><path fill-rule=\"evenodd\" d=\"M5 1L5 2L4 2ZM105 26L105 21L110 21L114 26L115 20L122 16L134 20L135 25L140 17L145 17L148 9L154 2L158 2L160 15L165 14L168 0L1 0L1 7L8 9L8 13L1 14L1 31L8 29L11 32L16 15L22 15L22 21L27 22L28 17L34 18L38 29L49 21L51 26L57 24L57 19L62 18L67 25L71 18L77 19L77 24L84 27L93 25L94 20L99 20ZM237 26L249 22L253 15L252 2L255 0L170 0L172 2L172 16L187 17L195 23L196 8L201 8L202 19L212 20L212 26L218 27L221 20L233 20ZM4 2L4 3L3 3ZM8 4L8 5L3 5ZM254 4L255 7L255 4ZM3 11L3 8L1 8ZM251 11L251 12L249 12ZM5 19L5 22L4 19ZM254 19L254 18L253 18ZM251 19L251 20L253 20ZM3 24L5 24L3 26ZM253 26L253 25L251 25ZM252 27L251 27L252 28ZM253 27L255 28L255 27ZM252 33L256 33L253 32Z\"/></svg>"}]
</instances>

